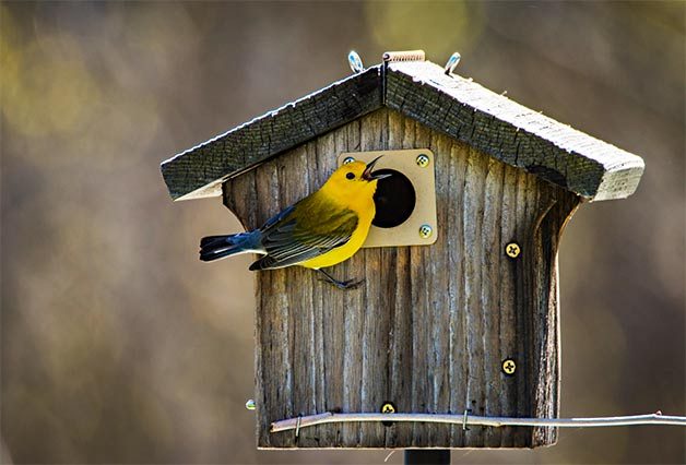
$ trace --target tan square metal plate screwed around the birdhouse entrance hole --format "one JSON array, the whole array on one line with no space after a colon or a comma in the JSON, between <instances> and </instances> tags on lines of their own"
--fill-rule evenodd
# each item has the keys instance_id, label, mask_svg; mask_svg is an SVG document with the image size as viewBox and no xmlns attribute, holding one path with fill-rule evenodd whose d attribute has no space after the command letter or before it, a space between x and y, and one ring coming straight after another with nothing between
<instances>
[{"instance_id":1,"label":"tan square metal plate screwed around the birdhouse entrance hole","mask_svg":"<svg viewBox=\"0 0 686 465\"><path fill-rule=\"evenodd\" d=\"M383 157L379 159L374 170L394 169L405 175L414 187L416 202L414 211L401 225L392 228L379 228L372 225L363 247L429 246L436 242L438 225L436 224L434 153L427 148L346 152L339 155L338 166L343 165L343 160L347 157L369 163L379 155ZM419 155L427 156L428 164L423 158L424 163L417 163ZM428 237L419 234L419 229L425 225L429 225L433 229Z\"/></svg>"}]
</instances>

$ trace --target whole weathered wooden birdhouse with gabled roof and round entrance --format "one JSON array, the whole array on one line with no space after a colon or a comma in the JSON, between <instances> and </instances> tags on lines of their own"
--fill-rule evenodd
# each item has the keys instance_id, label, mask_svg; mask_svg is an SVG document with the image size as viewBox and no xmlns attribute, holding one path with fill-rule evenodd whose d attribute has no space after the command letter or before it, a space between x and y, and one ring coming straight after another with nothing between
<instances>
[{"instance_id":1,"label":"whole weathered wooden birdhouse with gabled roof and round entrance","mask_svg":"<svg viewBox=\"0 0 686 465\"><path fill-rule=\"evenodd\" d=\"M351 159L383 155L397 174L378 181L366 247L329 270L363 285L256 273L259 448L555 442L554 428L430 421L271 431L323 413L558 416L561 233L581 204L631 194L643 162L451 71L386 53L162 164L174 200L220 196L246 229Z\"/></svg>"}]
</instances>

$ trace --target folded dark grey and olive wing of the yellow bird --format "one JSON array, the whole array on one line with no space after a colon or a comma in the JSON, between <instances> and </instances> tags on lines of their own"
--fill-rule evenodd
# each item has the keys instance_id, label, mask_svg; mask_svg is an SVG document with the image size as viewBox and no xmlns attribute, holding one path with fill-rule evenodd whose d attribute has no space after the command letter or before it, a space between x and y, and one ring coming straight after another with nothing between
<instances>
[{"instance_id":1,"label":"folded dark grey and olive wing of the yellow bird","mask_svg":"<svg viewBox=\"0 0 686 465\"><path fill-rule=\"evenodd\" d=\"M272 270L294 265L351 239L357 228L357 215L350 210L339 210L326 216L312 214L301 218L285 216L263 231L262 245L267 255L250 265L250 270ZM318 217L314 223L312 217Z\"/></svg>"}]
</instances>

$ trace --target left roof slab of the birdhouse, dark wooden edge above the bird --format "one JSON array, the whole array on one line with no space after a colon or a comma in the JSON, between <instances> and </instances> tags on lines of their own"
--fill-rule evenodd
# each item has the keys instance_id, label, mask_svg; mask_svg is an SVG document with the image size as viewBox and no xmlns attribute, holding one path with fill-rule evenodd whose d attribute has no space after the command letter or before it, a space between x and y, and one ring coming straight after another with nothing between
<instances>
[{"instance_id":1,"label":"left roof slab of the birdhouse, dark wooden edge above the bird","mask_svg":"<svg viewBox=\"0 0 686 465\"><path fill-rule=\"evenodd\" d=\"M169 194L218 195L227 177L378 109L380 80L379 67L369 68L163 162Z\"/></svg>"}]
</instances>

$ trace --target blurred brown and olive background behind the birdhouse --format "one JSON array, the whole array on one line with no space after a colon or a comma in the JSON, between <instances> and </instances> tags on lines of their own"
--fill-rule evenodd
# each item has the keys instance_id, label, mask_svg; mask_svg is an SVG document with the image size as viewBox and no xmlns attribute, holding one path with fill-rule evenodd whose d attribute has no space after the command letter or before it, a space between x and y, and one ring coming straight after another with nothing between
<instances>
[{"instance_id":1,"label":"blurred brown and olive background behind the birdhouse","mask_svg":"<svg viewBox=\"0 0 686 465\"><path fill-rule=\"evenodd\" d=\"M459 74L641 155L582 206L561 273L563 416L685 408L684 2L2 2L1 432L16 463L382 463L260 452L250 261L218 199L173 203L159 163L423 48ZM453 463L684 463L669 427L563 430ZM402 463L395 453L388 463Z\"/></svg>"}]
</instances>

